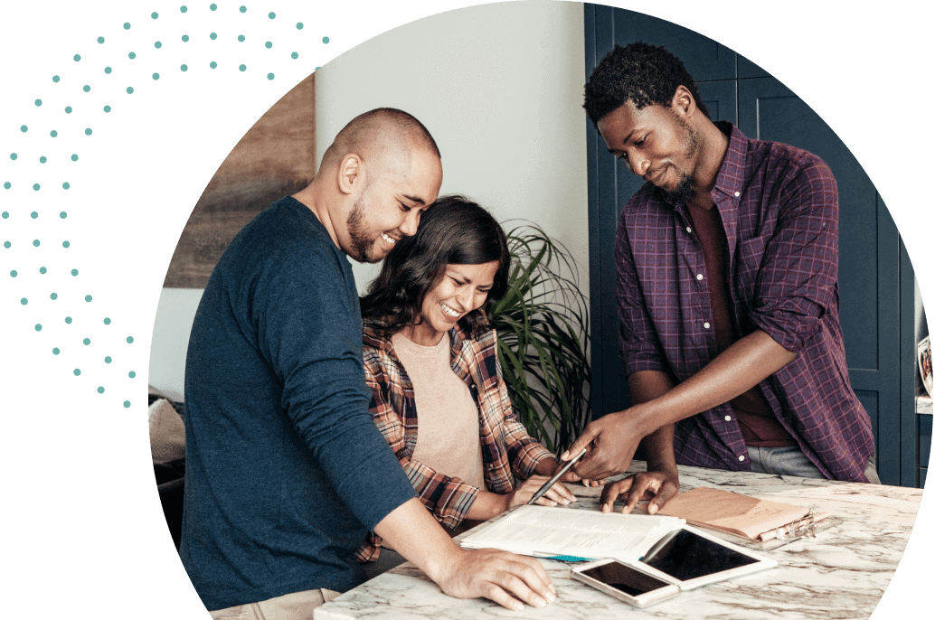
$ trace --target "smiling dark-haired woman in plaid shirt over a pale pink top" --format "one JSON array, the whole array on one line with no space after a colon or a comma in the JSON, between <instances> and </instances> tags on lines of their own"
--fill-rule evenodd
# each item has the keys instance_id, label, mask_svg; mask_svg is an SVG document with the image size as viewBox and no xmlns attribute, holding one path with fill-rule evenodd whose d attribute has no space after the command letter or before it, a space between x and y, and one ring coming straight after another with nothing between
<instances>
[{"instance_id":1,"label":"smiling dark-haired woman in plaid shirt over a pale pink top","mask_svg":"<svg viewBox=\"0 0 935 620\"><path fill-rule=\"evenodd\" d=\"M496 220L445 196L361 299L370 412L425 507L453 530L528 502L558 469L512 411L484 311L507 293L510 263ZM537 503L573 500L558 483ZM380 546L371 535L358 559L377 559Z\"/></svg>"}]
</instances>

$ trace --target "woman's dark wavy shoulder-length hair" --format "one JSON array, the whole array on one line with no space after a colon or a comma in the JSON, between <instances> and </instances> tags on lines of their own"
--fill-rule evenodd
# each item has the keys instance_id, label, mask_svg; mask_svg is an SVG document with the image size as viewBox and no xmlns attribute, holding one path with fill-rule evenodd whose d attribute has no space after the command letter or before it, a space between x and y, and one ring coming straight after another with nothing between
<instances>
[{"instance_id":1,"label":"woman's dark wavy shoulder-length hair","mask_svg":"<svg viewBox=\"0 0 935 620\"><path fill-rule=\"evenodd\" d=\"M360 299L360 312L383 338L416 324L422 303L449 265L482 265L497 261L494 285L485 306L502 298L510 280L507 237L486 209L461 195L442 196L422 215L412 237L396 241L376 280ZM468 334L489 326L482 309L458 321Z\"/></svg>"}]
</instances>

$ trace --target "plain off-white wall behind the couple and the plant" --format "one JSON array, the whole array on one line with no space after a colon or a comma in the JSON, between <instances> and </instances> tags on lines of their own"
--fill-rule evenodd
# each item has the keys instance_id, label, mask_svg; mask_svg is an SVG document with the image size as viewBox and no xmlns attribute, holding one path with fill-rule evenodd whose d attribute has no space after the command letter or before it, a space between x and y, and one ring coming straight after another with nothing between
<instances>
[{"instance_id":1,"label":"plain off-white wall behind the couple and the plant","mask_svg":"<svg viewBox=\"0 0 935 620\"><path fill-rule=\"evenodd\" d=\"M501 222L538 223L578 261L586 295L583 86L581 4L500 3L427 17L362 43L316 73L318 163L357 114L404 109L439 144L441 192L468 195ZM377 269L355 265L359 289ZM185 351L201 293L163 289L151 385L184 394Z\"/></svg>"}]
</instances>

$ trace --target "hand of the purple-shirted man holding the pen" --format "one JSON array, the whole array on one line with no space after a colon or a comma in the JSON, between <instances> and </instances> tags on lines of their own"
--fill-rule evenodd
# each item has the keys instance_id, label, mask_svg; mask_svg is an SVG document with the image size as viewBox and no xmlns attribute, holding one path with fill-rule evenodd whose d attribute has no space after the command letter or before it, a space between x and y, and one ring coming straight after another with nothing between
<instances>
[{"instance_id":1,"label":"hand of the purple-shirted man holding the pen","mask_svg":"<svg viewBox=\"0 0 935 620\"><path fill-rule=\"evenodd\" d=\"M575 473L582 478L600 480L626 471L643 438L642 429L634 423L630 411L632 409L608 413L587 425L562 454L562 460L568 460L593 444L591 452L575 465Z\"/></svg>"}]
</instances>

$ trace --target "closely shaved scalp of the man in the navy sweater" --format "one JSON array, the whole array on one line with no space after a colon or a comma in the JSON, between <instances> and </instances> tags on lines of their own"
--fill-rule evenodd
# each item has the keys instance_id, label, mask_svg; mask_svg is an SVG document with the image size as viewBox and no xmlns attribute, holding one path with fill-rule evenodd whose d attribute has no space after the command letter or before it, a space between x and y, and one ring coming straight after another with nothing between
<instances>
[{"instance_id":1,"label":"closely shaved scalp of the man in the navy sweater","mask_svg":"<svg viewBox=\"0 0 935 620\"><path fill-rule=\"evenodd\" d=\"M364 112L338 132L324 151L322 169L337 166L348 153L355 153L376 169L397 170L409 166L411 151L424 150L439 159L435 139L422 123L401 109L377 108Z\"/></svg>"}]
</instances>

